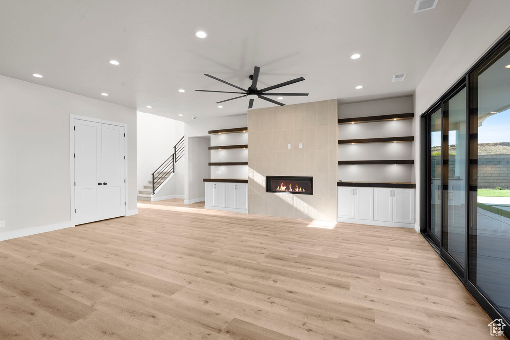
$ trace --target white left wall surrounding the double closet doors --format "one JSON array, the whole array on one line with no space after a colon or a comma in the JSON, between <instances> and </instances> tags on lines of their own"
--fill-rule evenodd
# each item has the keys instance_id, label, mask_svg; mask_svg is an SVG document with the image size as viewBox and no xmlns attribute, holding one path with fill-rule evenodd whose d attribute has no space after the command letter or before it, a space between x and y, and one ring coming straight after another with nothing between
<instances>
[{"instance_id":1,"label":"white left wall surrounding the double closet doors","mask_svg":"<svg viewBox=\"0 0 510 340\"><path fill-rule=\"evenodd\" d=\"M70 226L70 114L127 124L127 207L136 211L135 109L2 75L0 89L0 240Z\"/></svg>"}]
</instances>

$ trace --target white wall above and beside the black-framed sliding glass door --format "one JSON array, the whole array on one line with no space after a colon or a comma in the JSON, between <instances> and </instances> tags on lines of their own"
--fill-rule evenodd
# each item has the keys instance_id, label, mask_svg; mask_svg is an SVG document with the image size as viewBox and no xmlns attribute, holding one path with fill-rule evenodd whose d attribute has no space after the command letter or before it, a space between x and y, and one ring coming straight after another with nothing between
<instances>
[{"instance_id":1,"label":"white wall above and beside the black-framed sliding glass door","mask_svg":"<svg viewBox=\"0 0 510 340\"><path fill-rule=\"evenodd\" d=\"M415 93L415 131L419 117L500 38L510 27L507 13L510 1L472 0L466 12L428 69ZM420 141L414 143L420 154ZM420 178L420 159L415 160L415 177ZM416 186L416 221L420 227L420 186Z\"/></svg>"}]
</instances>

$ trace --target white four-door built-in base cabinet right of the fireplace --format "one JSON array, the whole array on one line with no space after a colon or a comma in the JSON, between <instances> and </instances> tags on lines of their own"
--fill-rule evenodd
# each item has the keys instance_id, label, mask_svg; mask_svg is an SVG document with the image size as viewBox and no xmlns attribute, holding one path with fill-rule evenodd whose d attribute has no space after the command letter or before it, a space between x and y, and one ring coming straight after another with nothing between
<instances>
[{"instance_id":1,"label":"white four-door built-in base cabinet right of the fireplace","mask_svg":"<svg viewBox=\"0 0 510 340\"><path fill-rule=\"evenodd\" d=\"M338 187L337 221L414 227L415 190Z\"/></svg>"}]
</instances>

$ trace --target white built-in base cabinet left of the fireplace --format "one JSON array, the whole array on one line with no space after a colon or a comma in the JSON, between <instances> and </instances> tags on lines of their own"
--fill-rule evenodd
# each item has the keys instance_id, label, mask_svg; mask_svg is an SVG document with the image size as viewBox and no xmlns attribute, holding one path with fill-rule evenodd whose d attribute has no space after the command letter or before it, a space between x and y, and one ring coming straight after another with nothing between
<instances>
[{"instance_id":1,"label":"white built-in base cabinet left of the fireplace","mask_svg":"<svg viewBox=\"0 0 510 340\"><path fill-rule=\"evenodd\" d=\"M206 182L206 208L247 213L247 202L246 183Z\"/></svg>"}]
</instances>

